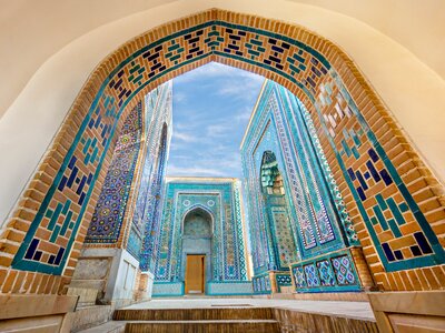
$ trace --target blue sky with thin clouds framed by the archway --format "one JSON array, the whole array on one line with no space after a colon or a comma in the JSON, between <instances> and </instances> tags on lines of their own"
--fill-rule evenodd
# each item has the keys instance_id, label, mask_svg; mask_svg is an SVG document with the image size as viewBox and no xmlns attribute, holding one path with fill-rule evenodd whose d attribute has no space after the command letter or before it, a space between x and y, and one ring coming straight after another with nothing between
<instances>
[{"instance_id":1,"label":"blue sky with thin clouds framed by the archway","mask_svg":"<svg viewBox=\"0 0 445 333\"><path fill-rule=\"evenodd\" d=\"M264 80L216 62L176 78L167 175L241 178L239 144Z\"/></svg>"}]
</instances>

